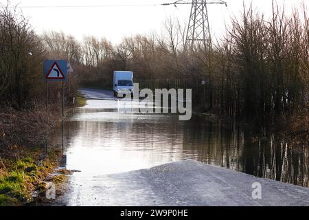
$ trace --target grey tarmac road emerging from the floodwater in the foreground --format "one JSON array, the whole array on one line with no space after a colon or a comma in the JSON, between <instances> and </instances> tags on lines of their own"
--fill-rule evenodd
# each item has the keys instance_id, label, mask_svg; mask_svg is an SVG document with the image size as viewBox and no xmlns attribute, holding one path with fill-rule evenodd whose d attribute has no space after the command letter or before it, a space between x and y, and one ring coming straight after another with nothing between
<instances>
[{"instance_id":1,"label":"grey tarmac road emerging from the floodwater in the foreground","mask_svg":"<svg viewBox=\"0 0 309 220\"><path fill-rule=\"evenodd\" d=\"M67 206L309 206L309 188L253 177L194 160L93 177L69 190ZM261 199L253 199L260 183ZM83 183L86 184L86 181Z\"/></svg>"}]
</instances>

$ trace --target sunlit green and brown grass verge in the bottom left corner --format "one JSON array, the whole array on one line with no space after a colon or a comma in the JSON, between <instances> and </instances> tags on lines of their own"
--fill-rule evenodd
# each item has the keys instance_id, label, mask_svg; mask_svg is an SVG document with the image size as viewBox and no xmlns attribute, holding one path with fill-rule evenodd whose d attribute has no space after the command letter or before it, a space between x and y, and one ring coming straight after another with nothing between
<instances>
[{"instance_id":1,"label":"sunlit green and brown grass verge in the bottom left corner","mask_svg":"<svg viewBox=\"0 0 309 220\"><path fill-rule=\"evenodd\" d=\"M19 158L0 158L0 206L30 204L36 199L34 192L38 196L44 196L47 189L45 180L58 167L60 151L55 149L48 153L42 148L18 148L14 151L16 152L10 155L18 154ZM65 180L62 174L52 178L55 184Z\"/></svg>"}]
</instances>

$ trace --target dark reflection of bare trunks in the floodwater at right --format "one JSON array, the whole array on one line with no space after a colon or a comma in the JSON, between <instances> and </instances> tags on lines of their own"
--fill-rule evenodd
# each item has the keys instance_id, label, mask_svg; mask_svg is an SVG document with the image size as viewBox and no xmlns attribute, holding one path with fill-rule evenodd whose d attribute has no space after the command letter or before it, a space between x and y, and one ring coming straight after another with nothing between
<instances>
[{"instance_id":1,"label":"dark reflection of bare trunks in the floodwater at right","mask_svg":"<svg viewBox=\"0 0 309 220\"><path fill-rule=\"evenodd\" d=\"M196 120L194 124L198 124ZM202 123L203 124L203 123ZM195 159L243 173L309 187L308 145L294 144L284 137L255 137L241 126L205 122L194 127L184 142L187 151L195 146Z\"/></svg>"}]
</instances>

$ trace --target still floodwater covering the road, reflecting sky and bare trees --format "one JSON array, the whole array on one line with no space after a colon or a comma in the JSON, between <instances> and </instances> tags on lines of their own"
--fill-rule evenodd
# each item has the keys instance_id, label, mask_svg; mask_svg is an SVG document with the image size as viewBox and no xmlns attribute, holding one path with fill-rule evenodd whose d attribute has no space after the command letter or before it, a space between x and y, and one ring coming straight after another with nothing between
<instances>
[{"instance_id":1,"label":"still floodwater covering the road, reflecting sky and bare trees","mask_svg":"<svg viewBox=\"0 0 309 220\"><path fill-rule=\"evenodd\" d=\"M66 117L52 142L63 144L66 167L81 171L70 181L76 196L93 177L185 159L309 187L308 145L274 135L260 138L233 122L133 113L117 100L88 100Z\"/></svg>"}]
</instances>

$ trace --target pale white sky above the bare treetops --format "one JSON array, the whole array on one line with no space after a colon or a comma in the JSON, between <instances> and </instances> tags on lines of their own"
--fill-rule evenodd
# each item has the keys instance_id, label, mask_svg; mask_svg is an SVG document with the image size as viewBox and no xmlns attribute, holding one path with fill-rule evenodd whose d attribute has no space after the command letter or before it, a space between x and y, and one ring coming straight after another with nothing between
<instances>
[{"instance_id":1,"label":"pale white sky above the bare treetops","mask_svg":"<svg viewBox=\"0 0 309 220\"><path fill-rule=\"evenodd\" d=\"M162 6L161 3L170 3L176 0L10 0L19 6L76 6L76 5L109 5L97 8L21 8L23 13L30 18L34 30L41 34L44 31L62 31L76 36L82 40L84 36L105 36L113 43L119 43L123 36L161 32L163 21L172 17L182 22L188 21L190 5ZM185 0L188 1L188 0ZM213 0L216 1L216 0ZM226 0L225 5L209 5L209 25L214 36L220 36L229 24L229 18L237 16L242 10L243 0ZM297 5L306 0L277 0L286 8ZM0 0L5 3L6 0ZM271 0L253 0L253 7L266 16L271 13ZM245 0L245 3L250 1ZM146 6L145 4L149 4ZM155 5L153 5L155 4ZM136 5L116 7L112 5ZM143 6L137 6L143 5Z\"/></svg>"}]
</instances>

